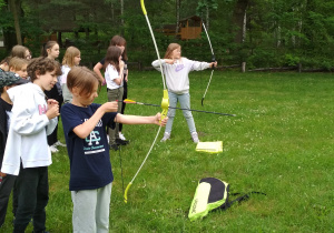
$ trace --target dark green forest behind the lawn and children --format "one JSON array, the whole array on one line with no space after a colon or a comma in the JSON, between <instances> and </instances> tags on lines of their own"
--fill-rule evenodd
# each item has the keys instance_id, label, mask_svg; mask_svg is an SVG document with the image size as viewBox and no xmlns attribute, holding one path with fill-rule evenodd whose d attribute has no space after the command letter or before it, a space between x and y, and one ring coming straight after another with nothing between
<instances>
[{"instance_id":1,"label":"dark green forest behind the lawn and children","mask_svg":"<svg viewBox=\"0 0 334 233\"><path fill-rule=\"evenodd\" d=\"M164 54L170 42L183 45L183 54L210 60L207 38L181 41L157 30L180 19L204 19L220 65L287 68L299 71L334 68L334 1L328 0L146 0L158 48ZM2 31L2 36L1 36ZM57 33L62 50L80 49L82 64L94 65L109 40L127 40L129 61L139 68L156 59L139 0L0 0L0 40L6 57L22 43L38 57L43 41ZM65 52L61 52L63 55ZM61 59L60 55L60 59Z\"/></svg>"}]
</instances>

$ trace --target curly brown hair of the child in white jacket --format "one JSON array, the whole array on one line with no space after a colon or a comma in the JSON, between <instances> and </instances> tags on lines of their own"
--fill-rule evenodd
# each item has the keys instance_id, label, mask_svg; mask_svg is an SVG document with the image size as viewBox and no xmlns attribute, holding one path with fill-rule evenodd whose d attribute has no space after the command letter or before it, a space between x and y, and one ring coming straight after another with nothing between
<instances>
[{"instance_id":1,"label":"curly brown hair of the child in white jacket","mask_svg":"<svg viewBox=\"0 0 334 233\"><path fill-rule=\"evenodd\" d=\"M56 75L61 75L59 62L43 57L31 59L30 63L27 67L28 77L30 77L31 82L37 79L37 73L42 75L47 72L52 72L53 70L56 70Z\"/></svg>"}]
</instances>

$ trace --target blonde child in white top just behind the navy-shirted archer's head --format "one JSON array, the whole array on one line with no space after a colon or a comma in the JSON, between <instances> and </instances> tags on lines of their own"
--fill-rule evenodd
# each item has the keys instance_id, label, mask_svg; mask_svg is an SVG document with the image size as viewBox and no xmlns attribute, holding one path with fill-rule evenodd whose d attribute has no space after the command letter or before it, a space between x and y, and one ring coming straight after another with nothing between
<instances>
[{"instance_id":1,"label":"blonde child in white top just behind the navy-shirted archer's head","mask_svg":"<svg viewBox=\"0 0 334 233\"><path fill-rule=\"evenodd\" d=\"M67 48L65 55L62 58L62 67L61 67L62 74L58 78L61 84L63 103L69 103L72 100L72 94L68 90L66 84L68 72L73 67L79 65L80 61L81 61L80 50L77 49L76 47Z\"/></svg>"}]
</instances>

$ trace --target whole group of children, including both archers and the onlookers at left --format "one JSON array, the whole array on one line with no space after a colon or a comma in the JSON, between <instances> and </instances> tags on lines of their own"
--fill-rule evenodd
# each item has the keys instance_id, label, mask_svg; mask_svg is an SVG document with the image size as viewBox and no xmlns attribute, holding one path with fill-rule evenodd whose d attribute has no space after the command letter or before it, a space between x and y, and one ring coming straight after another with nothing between
<instances>
[{"instance_id":1,"label":"whole group of children, including both archers and the onlookers at left","mask_svg":"<svg viewBox=\"0 0 334 233\"><path fill-rule=\"evenodd\" d=\"M49 145L50 141L57 143L58 118L61 115L70 160L73 232L109 232L114 181L109 150L118 150L119 144L127 143L119 133L120 125L167 123L161 140L166 141L170 138L175 111L169 109L169 119L164 120L160 120L159 113L153 116L121 113L120 100L127 92L128 72L126 41L119 36L111 39L106 57L94 68L95 72L79 67L80 51L75 47L66 50L60 67L56 61L59 44L55 41L43 45L39 58L29 60L29 50L23 55L8 58L0 65L0 227L4 223L8 199L13 189L13 232L24 232L31 220L33 232L46 232L48 166L52 163ZM26 63L19 65L16 61L11 65L14 59ZM154 61L153 65L159 69L160 62L166 74L170 107L176 107L179 101L181 108L190 107L188 73L217 65L216 62L181 58L180 45L176 43L170 44L165 58ZM105 69L105 78L101 69ZM27 80L29 83L26 83ZM108 102L94 103L102 83L107 84ZM62 101L65 104L61 107ZM186 110L184 115L191 139L197 143L199 140L193 115ZM56 136L50 139L55 131Z\"/></svg>"}]
</instances>

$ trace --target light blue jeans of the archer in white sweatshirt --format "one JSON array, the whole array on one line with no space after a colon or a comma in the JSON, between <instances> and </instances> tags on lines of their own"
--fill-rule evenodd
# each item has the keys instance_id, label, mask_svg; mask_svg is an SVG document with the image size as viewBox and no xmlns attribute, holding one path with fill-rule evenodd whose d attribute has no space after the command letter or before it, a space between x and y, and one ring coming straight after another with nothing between
<instances>
[{"instance_id":1,"label":"light blue jeans of the archer in white sweatshirt","mask_svg":"<svg viewBox=\"0 0 334 233\"><path fill-rule=\"evenodd\" d=\"M176 94L174 92L168 91L168 97L169 97L169 107L176 107L177 102L179 102L181 109L190 109L190 94L189 93ZM168 121L166 124L165 133L171 132L175 111L176 111L176 109L168 110L168 113L167 113ZM184 116L187 121L190 134L196 132L196 126L195 126L195 122L194 122L191 112L187 111L187 110L183 110L183 112L184 112Z\"/></svg>"}]
</instances>

